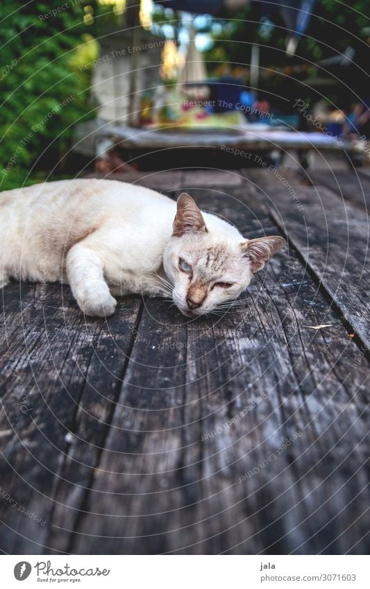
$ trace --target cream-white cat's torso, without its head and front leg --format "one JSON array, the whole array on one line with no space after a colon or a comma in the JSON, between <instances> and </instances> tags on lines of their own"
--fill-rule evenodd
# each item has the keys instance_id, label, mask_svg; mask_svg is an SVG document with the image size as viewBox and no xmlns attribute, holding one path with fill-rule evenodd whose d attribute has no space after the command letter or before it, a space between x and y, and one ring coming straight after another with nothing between
<instances>
[{"instance_id":1,"label":"cream-white cat's torso, without its head and front leg","mask_svg":"<svg viewBox=\"0 0 370 589\"><path fill-rule=\"evenodd\" d=\"M99 250L109 284L146 279L160 267L175 213L176 203L166 196L111 180L6 191L0 196L3 266L21 280L68 282L67 255L83 244ZM138 280L131 287L140 292Z\"/></svg>"}]
</instances>

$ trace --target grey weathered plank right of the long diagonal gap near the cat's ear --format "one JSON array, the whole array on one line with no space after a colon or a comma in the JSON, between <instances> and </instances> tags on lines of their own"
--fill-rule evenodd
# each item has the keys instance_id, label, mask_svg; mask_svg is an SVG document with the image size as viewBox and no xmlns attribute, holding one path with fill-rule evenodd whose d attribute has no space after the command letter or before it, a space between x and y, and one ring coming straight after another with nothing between
<instances>
[{"instance_id":1,"label":"grey weathered plank right of the long diagonal gap near the cat's ear","mask_svg":"<svg viewBox=\"0 0 370 589\"><path fill-rule=\"evenodd\" d=\"M276 223L317 276L343 319L370 348L369 218L333 191L308 187L289 171L246 171Z\"/></svg>"}]
</instances>

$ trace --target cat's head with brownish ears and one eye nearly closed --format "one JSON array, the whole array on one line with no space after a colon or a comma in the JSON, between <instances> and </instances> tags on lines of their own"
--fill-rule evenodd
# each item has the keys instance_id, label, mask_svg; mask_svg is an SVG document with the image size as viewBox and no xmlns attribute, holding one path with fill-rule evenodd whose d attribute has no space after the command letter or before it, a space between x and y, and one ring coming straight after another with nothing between
<instances>
[{"instance_id":1,"label":"cat's head with brownish ears and one eye nearly closed","mask_svg":"<svg viewBox=\"0 0 370 589\"><path fill-rule=\"evenodd\" d=\"M233 225L214 219L208 217L207 227L192 197L179 196L163 264L174 303L186 316L224 309L285 244L276 235L246 240Z\"/></svg>"}]
</instances>

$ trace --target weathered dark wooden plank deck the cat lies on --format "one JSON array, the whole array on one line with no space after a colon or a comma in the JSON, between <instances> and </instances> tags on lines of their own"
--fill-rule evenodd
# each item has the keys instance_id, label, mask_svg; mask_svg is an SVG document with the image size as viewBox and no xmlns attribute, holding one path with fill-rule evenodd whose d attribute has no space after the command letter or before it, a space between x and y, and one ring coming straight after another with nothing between
<instances>
[{"instance_id":1,"label":"weathered dark wooden plank deck the cat lies on","mask_svg":"<svg viewBox=\"0 0 370 589\"><path fill-rule=\"evenodd\" d=\"M369 552L370 178L279 173L122 177L287 236L223 317L3 291L3 552Z\"/></svg>"}]
</instances>

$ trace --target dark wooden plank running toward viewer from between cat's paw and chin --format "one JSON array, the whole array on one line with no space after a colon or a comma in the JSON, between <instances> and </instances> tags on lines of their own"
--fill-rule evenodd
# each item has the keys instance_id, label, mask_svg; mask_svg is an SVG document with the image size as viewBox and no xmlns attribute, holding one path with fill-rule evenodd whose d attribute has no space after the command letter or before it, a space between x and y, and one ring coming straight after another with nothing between
<instances>
[{"instance_id":1,"label":"dark wooden plank running toward viewer from between cat's paw and chin","mask_svg":"<svg viewBox=\"0 0 370 589\"><path fill-rule=\"evenodd\" d=\"M155 552L155 546L165 551L171 510L180 509L186 495L180 468L186 330L183 318L168 307L161 300L146 302L112 425L106 441L101 441L104 449L91 481L87 469L79 470L78 480L73 475L76 460L87 462L90 441L87 417L81 412L76 435L85 442L75 445L65 470L69 480L76 480L82 496L70 484L58 486L56 527L50 539L56 549L143 554ZM89 398L90 393L87 398L84 393L82 409ZM72 512L78 500L85 510L80 518ZM77 533L71 537L76 526ZM114 538L102 544L101 536ZM144 537L137 540L135 536Z\"/></svg>"}]
</instances>

